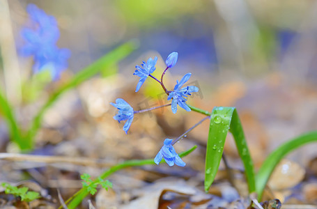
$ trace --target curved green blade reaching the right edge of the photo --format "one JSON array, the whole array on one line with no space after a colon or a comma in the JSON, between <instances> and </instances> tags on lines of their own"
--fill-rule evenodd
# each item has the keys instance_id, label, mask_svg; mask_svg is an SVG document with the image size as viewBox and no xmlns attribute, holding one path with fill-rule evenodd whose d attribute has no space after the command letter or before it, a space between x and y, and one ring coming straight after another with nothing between
<instances>
[{"instance_id":1,"label":"curved green blade reaching the right edge of the photo","mask_svg":"<svg viewBox=\"0 0 317 209\"><path fill-rule=\"evenodd\" d=\"M299 137L291 139L291 141L287 141L286 143L282 144L279 146L279 148L270 153L268 157L266 157L266 160L263 162L261 168L256 174L256 192L258 194L259 200L261 200L265 185L268 183L268 179L270 178L272 171L275 169L279 161L283 159L285 155L291 153L292 150L295 150L304 144L316 141L316 131L302 134Z\"/></svg>"}]
</instances>

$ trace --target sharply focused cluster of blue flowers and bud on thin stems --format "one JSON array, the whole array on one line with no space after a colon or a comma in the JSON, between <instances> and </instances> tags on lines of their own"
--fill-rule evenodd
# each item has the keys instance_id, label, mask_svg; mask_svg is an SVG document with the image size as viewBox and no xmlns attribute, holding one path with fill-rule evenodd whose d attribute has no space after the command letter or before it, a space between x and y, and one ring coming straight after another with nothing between
<instances>
[{"instance_id":1,"label":"sharply focused cluster of blue flowers and bud on thin stems","mask_svg":"<svg viewBox=\"0 0 317 209\"><path fill-rule=\"evenodd\" d=\"M156 56L154 59L149 58L147 62L143 61L141 66L136 65L135 66L136 70L133 73L133 75L137 75L140 77L135 92L139 91L139 89L141 88L141 86L144 84L144 82L146 81L146 79L148 77L151 77L151 78L155 79L155 81L160 83L160 85L164 89L165 93L167 93L167 95L168 95L167 100L172 100L171 101L171 110L173 111L173 114L176 114L177 105L179 107L182 107L186 111L191 111L190 107L188 107L188 105L186 104L186 101L187 101L186 98L188 95L191 95L191 93L199 91L199 88L197 88L196 86L183 87L183 85L192 76L192 73L187 73L182 79L180 79L180 82L177 81L176 85L174 86L173 91L167 91L167 88L163 84L163 77L165 75L165 72L167 72L167 69L173 68L176 65L177 60L178 60L178 53L177 52L172 52L171 54L169 54L169 56L167 57L167 60L165 61L165 63L167 64L167 68L162 73L161 80L159 80L159 79L155 78L153 75L151 75L156 69L155 68L155 65L157 63ZM116 107L118 109L118 114L116 114L116 116L114 116L114 119L116 121L118 121L119 123L121 121L126 121L125 125L123 126L123 130L125 131L126 134L127 134L127 130L129 130L130 125L133 121L134 114L137 114L137 113L142 112L142 111L150 111L152 109L156 109L156 108L152 108L152 109L147 109L147 110L142 110L142 111L134 111L133 108L130 106L130 104L125 102L125 100L123 100L123 99L117 99L116 103L110 103L110 104L112 104L114 107ZM167 104L167 105L170 105L170 104ZM167 105L163 105L162 107L167 106ZM157 108L159 108L159 107L157 107ZM185 162L183 162L183 160L176 153L175 149L173 148L172 141L173 141L172 139L165 139L164 140L164 146L162 146L159 153L157 153L157 155L154 159L154 162L156 164L159 164L161 162L162 158L164 158L164 160L167 162L167 164L169 164L169 166L173 166L174 164L176 164L180 167L184 167Z\"/></svg>"}]
</instances>

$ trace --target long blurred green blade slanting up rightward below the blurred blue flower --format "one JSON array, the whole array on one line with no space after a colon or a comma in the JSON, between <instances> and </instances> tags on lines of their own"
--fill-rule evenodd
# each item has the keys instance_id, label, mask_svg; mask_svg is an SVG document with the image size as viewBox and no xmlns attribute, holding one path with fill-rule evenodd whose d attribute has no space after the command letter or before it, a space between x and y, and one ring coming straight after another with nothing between
<instances>
[{"instance_id":1,"label":"long blurred green blade slanting up rightward below the blurred blue flower","mask_svg":"<svg viewBox=\"0 0 317 209\"><path fill-rule=\"evenodd\" d=\"M75 86L78 86L79 84L82 84L86 79L89 79L90 77L93 77L93 75L97 74L100 71L106 72L105 70L109 68L113 68L118 61L121 61L124 59L127 55L129 55L131 52L134 51L134 49L137 49L137 43L136 42L126 42L125 44L117 47L116 49L112 50L105 56L102 56L98 61L95 61L91 65L88 65L88 67L84 68L82 71L78 72L75 77L70 80L67 84L56 90L49 100L42 106L42 108L38 111L38 114L36 114L35 118L33 119L33 123L31 125L31 128L28 132L27 139L31 141L30 144L33 144L33 137L38 132L38 129L40 128L40 124L42 122L42 117L44 116L45 112L49 107L56 102L56 100L66 91L68 91L71 88L74 88ZM116 72L111 71L109 72Z\"/></svg>"}]
</instances>

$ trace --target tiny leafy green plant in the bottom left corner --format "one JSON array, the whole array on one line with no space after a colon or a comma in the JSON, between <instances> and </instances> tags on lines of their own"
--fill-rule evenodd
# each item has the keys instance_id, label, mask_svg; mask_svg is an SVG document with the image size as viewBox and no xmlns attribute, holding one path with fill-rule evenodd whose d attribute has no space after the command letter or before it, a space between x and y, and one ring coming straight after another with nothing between
<instances>
[{"instance_id":1,"label":"tiny leafy green plant in the bottom left corner","mask_svg":"<svg viewBox=\"0 0 317 209\"><path fill-rule=\"evenodd\" d=\"M31 202L40 198L40 193L28 191L28 187L19 188L8 183L2 183L1 185L5 188L4 192L6 192L6 194L13 194L16 197L20 197L21 201Z\"/></svg>"}]
</instances>

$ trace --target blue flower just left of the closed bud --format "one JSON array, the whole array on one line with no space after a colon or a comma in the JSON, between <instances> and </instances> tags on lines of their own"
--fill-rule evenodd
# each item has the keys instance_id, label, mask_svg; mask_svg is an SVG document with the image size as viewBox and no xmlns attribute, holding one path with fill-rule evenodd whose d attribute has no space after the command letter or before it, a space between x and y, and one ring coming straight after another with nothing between
<instances>
[{"instance_id":1,"label":"blue flower just left of the closed bud","mask_svg":"<svg viewBox=\"0 0 317 209\"><path fill-rule=\"evenodd\" d=\"M141 64L141 67L139 65L135 66L137 70L134 71L133 75L137 75L140 77L139 83L137 84L137 89L135 92L139 91L142 84L146 81L146 78L154 72L155 65L157 62L157 57L155 56L154 60L152 58L149 58L147 62L144 62Z\"/></svg>"}]
</instances>

